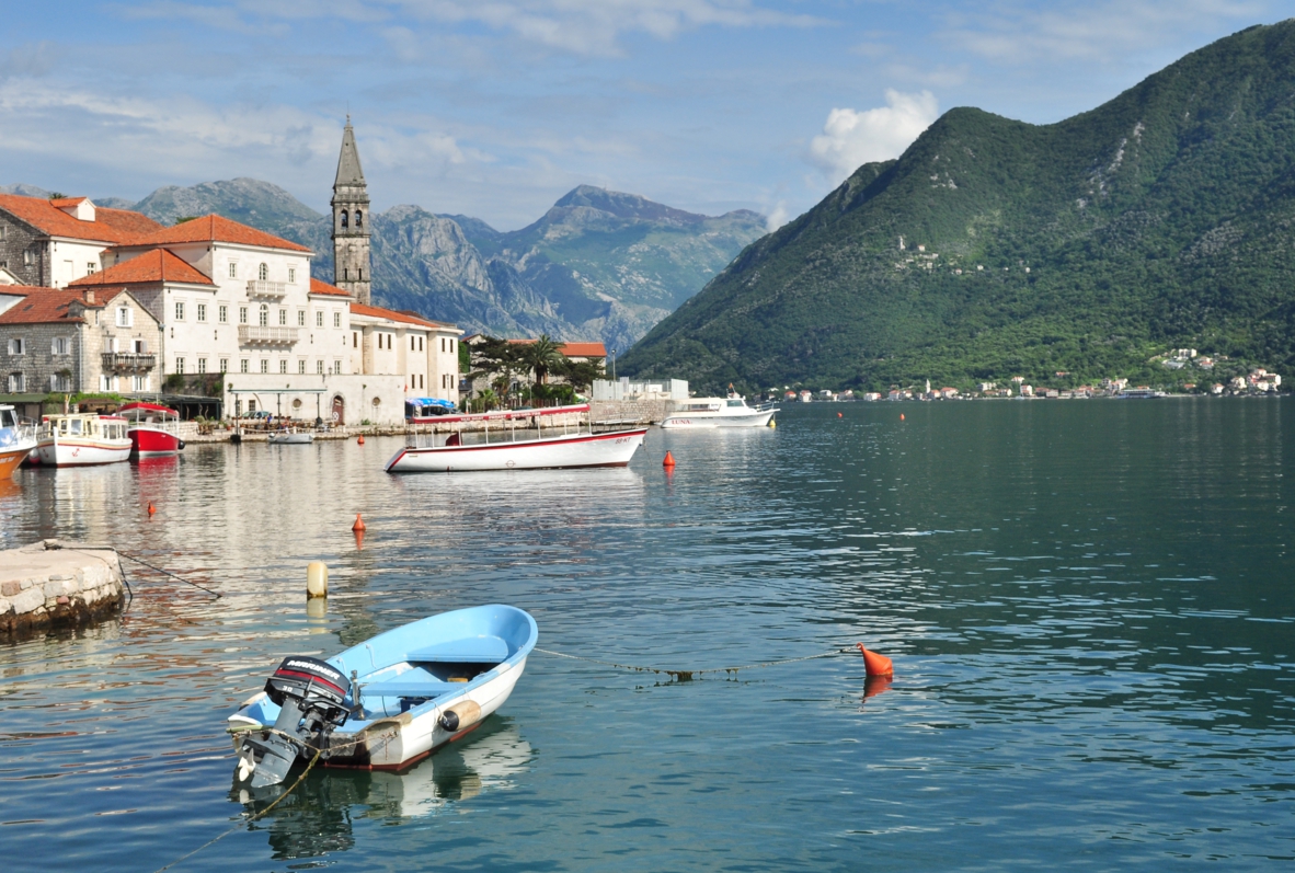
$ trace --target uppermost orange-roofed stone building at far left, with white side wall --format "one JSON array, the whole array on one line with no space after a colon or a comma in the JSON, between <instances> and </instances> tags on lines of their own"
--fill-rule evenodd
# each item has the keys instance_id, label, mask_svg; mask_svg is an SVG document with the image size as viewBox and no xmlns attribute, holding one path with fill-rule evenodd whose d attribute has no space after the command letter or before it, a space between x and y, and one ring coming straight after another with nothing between
<instances>
[{"instance_id":1,"label":"uppermost orange-roofed stone building at far left, with white side wall","mask_svg":"<svg viewBox=\"0 0 1295 873\"><path fill-rule=\"evenodd\" d=\"M0 269L31 286L63 288L100 269L100 253L162 225L88 197L0 194Z\"/></svg>"}]
</instances>

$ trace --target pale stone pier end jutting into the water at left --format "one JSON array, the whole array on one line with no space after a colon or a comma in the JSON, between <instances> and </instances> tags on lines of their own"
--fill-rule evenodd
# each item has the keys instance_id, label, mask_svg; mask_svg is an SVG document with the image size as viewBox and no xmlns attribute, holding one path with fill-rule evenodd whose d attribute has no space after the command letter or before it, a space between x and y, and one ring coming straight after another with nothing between
<instances>
[{"instance_id":1,"label":"pale stone pier end jutting into the water at left","mask_svg":"<svg viewBox=\"0 0 1295 873\"><path fill-rule=\"evenodd\" d=\"M0 552L0 637L88 624L126 602L111 549L40 540Z\"/></svg>"}]
</instances>

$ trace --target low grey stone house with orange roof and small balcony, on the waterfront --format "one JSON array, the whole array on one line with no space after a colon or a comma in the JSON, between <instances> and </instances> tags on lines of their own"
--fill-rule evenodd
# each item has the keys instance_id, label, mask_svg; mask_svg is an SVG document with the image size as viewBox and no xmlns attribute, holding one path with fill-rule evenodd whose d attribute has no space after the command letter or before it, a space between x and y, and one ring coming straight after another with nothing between
<instances>
[{"instance_id":1,"label":"low grey stone house with orange roof and small balcony, on the waterfront","mask_svg":"<svg viewBox=\"0 0 1295 873\"><path fill-rule=\"evenodd\" d=\"M144 392L158 387L157 319L124 288L0 288L0 390Z\"/></svg>"}]
</instances>

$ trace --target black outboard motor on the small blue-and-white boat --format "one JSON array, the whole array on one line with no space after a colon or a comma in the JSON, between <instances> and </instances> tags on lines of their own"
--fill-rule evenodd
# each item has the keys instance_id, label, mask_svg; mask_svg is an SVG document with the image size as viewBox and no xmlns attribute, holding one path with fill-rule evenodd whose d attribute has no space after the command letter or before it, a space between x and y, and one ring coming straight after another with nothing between
<instances>
[{"instance_id":1,"label":"black outboard motor on the small blue-and-white boat","mask_svg":"<svg viewBox=\"0 0 1295 873\"><path fill-rule=\"evenodd\" d=\"M322 749L328 734L346 721L350 710L344 701L350 690L347 677L326 661L306 655L284 658L265 680L265 694L280 706L275 731L281 733L250 731L242 743L240 775L246 778L250 760L255 765L253 788L282 782L299 754Z\"/></svg>"}]
</instances>

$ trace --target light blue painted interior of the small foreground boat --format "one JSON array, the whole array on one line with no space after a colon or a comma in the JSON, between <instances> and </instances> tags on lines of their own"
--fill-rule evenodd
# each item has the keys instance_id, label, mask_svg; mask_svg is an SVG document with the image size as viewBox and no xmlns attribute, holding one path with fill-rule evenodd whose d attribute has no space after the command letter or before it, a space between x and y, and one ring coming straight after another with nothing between
<instances>
[{"instance_id":1,"label":"light blue painted interior of the small foreground boat","mask_svg":"<svg viewBox=\"0 0 1295 873\"><path fill-rule=\"evenodd\" d=\"M456 628L456 624L460 624L461 627ZM457 631L458 633L456 636L447 636L447 631ZM436 636L430 636L430 633L435 633ZM425 650L430 646L445 645L456 640L473 640L482 637L497 637L502 640L509 648L508 657L497 662L493 662L493 659L480 662L465 662L456 659L413 661L408 657L411 654L418 654L421 649ZM352 670L356 672L351 693L347 694L347 705L354 706L354 697L357 686L360 692L360 702L364 709L368 710L368 701L364 693L366 684L391 683L391 685L388 685L390 688L395 685L395 683L400 681L400 676L414 671L420 671L420 675L411 676L411 681L427 690L434 690L435 693L427 696L426 698L421 694L379 694L377 698L382 701L412 698L421 702L408 706L408 709L401 707L399 714L388 712L387 710L390 709L390 705L383 703L379 707L381 711L373 712L370 718L360 719L352 716L347 719L334 732L334 736L361 733L382 721L396 719L405 712L408 712L411 718L416 719L431 712L435 709L452 705L455 701L470 694L474 689L488 684L490 681L504 675L506 671L521 664L527 655L530 655L537 640L539 627L535 624L535 619L530 615L530 613L506 604L486 604L482 606L469 606L465 609L427 615L416 622L383 631L382 633L369 637L363 642L357 642L329 658L325 658L328 663L341 670L347 677L351 676ZM368 661L370 664L366 672L360 667L360 662L363 661ZM474 675L466 683L449 683L436 680L435 676L433 676L429 681L426 677L429 671L426 671L425 667L420 667L420 664L427 663L492 663L492 666L488 670L483 670L482 672ZM401 667L404 668L399 670ZM388 677L381 677L383 674L398 670L399 672L392 672ZM245 714L250 718L253 710L259 710L259 718L256 720L260 721L260 724L273 724L278 715L278 707L264 697L264 694L258 694L253 698L253 701L249 701L247 705L240 707L238 714Z\"/></svg>"}]
</instances>

